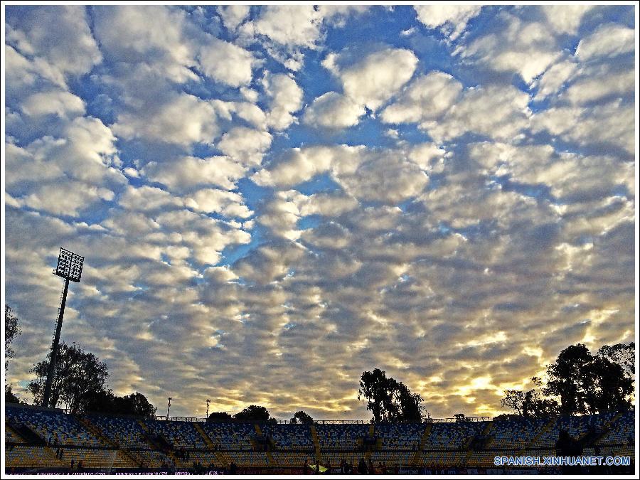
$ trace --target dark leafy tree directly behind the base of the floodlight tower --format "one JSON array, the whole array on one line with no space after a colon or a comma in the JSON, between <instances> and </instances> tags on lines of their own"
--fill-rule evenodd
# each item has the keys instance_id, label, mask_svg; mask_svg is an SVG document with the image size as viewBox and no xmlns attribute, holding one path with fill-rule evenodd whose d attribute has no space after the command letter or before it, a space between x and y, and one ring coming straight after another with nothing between
<instances>
[{"instance_id":1,"label":"dark leafy tree directly behind the base of the floodlight tower","mask_svg":"<svg viewBox=\"0 0 640 480\"><path fill-rule=\"evenodd\" d=\"M63 403L72 412L80 412L85 409L90 393L106 390L109 377L107 364L75 343L67 345L63 342L59 348L51 383L51 404L58 406ZM49 352L46 360L36 363L30 370L36 379L31 380L28 389L36 404L42 402L50 357Z\"/></svg>"}]
</instances>

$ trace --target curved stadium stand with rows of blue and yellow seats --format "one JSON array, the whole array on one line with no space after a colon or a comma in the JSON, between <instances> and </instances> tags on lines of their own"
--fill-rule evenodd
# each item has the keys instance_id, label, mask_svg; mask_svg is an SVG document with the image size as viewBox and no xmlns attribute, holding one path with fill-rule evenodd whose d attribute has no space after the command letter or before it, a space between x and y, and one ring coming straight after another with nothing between
<instances>
[{"instance_id":1,"label":"curved stadium stand with rows of blue and yellow seats","mask_svg":"<svg viewBox=\"0 0 640 480\"><path fill-rule=\"evenodd\" d=\"M307 471L316 461L338 469L343 460L353 466L364 460L378 473L402 469L405 473L494 471L496 455L555 455L561 430L569 432L587 455L617 454L634 459L635 448L634 411L398 425L209 423L97 414L78 417L14 404L7 404L5 412L9 473L206 473L232 468L253 474L302 473L305 464Z\"/></svg>"}]
</instances>

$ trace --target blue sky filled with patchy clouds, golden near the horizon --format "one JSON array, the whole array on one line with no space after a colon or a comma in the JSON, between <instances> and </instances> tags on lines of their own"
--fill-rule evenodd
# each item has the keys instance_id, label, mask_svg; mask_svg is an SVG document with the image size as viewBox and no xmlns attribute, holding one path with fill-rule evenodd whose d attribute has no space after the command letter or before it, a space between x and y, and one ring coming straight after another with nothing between
<instances>
[{"instance_id":1,"label":"blue sky filled with patchy clouds, golden near the horizon","mask_svg":"<svg viewBox=\"0 0 640 480\"><path fill-rule=\"evenodd\" d=\"M62 339L203 416L493 415L634 340L634 6L6 6L14 392Z\"/></svg>"}]
</instances>

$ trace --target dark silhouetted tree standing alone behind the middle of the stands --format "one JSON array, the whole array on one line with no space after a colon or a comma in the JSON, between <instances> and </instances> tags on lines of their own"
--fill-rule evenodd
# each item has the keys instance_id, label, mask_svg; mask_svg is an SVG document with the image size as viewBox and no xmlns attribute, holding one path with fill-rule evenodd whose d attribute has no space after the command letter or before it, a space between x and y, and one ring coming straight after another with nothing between
<instances>
[{"instance_id":1,"label":"dark silhouetted tree standing alone behind the middle of the stands","mask_svg":"<svg viewBox=\"0 0 640 480\"><path fill-rule=\"evenodd\" d=\"M362 373L358 400L367 402L374 423L422 421L422 397L379 368Z\"/></svg>"}]
</instances>

